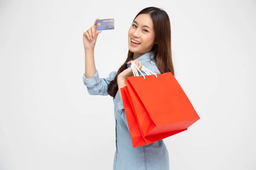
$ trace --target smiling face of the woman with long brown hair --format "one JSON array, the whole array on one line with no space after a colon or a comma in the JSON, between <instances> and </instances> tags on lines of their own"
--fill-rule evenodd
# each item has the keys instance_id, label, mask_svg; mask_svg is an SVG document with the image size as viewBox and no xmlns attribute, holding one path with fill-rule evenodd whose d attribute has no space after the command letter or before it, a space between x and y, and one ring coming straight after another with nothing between
<instances>
[{"instance_id":1,"label":"smiling face of the woman with long brown hair","mask_svg":"<svg viewBox=\"0 0 256 170\"><path fill-rule=\"evenodd\" d=\"M148 53L155 41L153 21L149 14L138 15L128 31L128 47L131 52Z\"/></svg>"}]
</instances>

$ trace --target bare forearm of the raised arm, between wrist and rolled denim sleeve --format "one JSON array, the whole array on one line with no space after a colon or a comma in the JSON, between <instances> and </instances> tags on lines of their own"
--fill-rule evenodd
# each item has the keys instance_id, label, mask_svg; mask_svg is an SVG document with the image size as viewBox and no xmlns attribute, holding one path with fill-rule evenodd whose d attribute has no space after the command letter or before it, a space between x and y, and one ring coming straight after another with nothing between
<instances>
[{"instance_id":1,"label":"bare forearm of the raised arm, between wrist and rolled denim sleeve","mask_svg":"<svg viewBox=\"0 0 256 170\"><path fill-rule=\"evenodd\" d=\"M94 61L94 49L87 49L84 51L85 54L85 68L84 73L86 78L93 77L96 74L96 66Z\"/></svg>"}]
</instances>

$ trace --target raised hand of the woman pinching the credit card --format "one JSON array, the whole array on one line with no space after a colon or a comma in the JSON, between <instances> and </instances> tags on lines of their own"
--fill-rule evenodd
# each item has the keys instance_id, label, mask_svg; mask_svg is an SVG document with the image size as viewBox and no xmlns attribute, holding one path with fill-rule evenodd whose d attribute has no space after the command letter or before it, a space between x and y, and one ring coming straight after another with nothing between
<instances>
[{"instance_id":1,"label":"raised hand of the woman pinching the credit card","mask_svg":"<svg viewBox=\"0 0 256 170\"><path fill-rule=\"evenodd\" d=\"M99 18L96 18L93 26L91 26L83 34L84 50L93 49L95 47L98 34L102 32L102 31L97 31L97 20L99 20Z\"/></svg>"}]
</instances>

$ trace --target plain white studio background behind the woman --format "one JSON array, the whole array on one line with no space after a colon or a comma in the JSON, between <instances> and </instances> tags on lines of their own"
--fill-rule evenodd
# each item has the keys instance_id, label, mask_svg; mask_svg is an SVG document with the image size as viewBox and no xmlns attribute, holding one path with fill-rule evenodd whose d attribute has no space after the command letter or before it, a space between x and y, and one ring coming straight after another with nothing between
<instances>
[{"instance_id":1,"label":"plain white studio background behind the woman","mask_svg":"<svg viewBox=\"0 0 256 170\"><path fill-rule=\"evenodd\" d=\"M87 93L82 34L114 18L95 47L107 77L148 6L169 14L176 78L201 117L164 139L170 170L256 169L255 0L1 0L0 170L113 168L113 101Z\"/></svg>"}]
</instances>

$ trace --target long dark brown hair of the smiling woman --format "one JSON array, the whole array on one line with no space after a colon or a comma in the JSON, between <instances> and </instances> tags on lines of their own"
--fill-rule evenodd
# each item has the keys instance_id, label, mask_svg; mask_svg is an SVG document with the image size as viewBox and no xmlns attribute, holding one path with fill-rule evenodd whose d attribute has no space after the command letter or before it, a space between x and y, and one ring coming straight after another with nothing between
<instances>
[{"instance_id":1,"label":"long dark brown hair of the smiling woman","mask_svg":"<svg viewBox=\"0 0 256 170\"><path fill-rule=\"evenodd\" d=\"M171 47L171 25L169 16L163 9L156 7L148 7L141 10L137 15L149 14L153 21L155 31L155 41L151 51L154 53L154 60L157 68L161 73L172 72L174 75L174 68L172 65L172 47ZM134 18L134 20L136 19ZM108 85L108 94L112 97L116 96L118 91L117 76L127 69L127 62L133 58L133 52L128 51L128 57L123 65L117 71L116 77Z\"/></svg>"}]
</instances>

